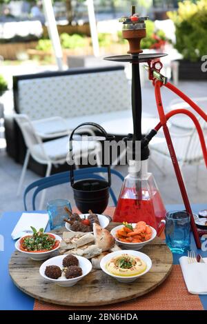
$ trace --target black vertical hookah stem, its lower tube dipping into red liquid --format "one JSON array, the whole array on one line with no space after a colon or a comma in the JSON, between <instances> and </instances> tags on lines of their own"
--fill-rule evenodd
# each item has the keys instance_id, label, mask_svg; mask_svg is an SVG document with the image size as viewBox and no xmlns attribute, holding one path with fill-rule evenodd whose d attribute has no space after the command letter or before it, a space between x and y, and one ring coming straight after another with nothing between
<instances>
[{"instance_id":1,"label":"black vertical hookah stem, its lower tube dipping into red liquid","mask_svg":"<svg viewBox=\"0 0 207 324\"><path fill-rule=\"evenodd\" d=\"M140 141L141 143L141 83L140 83L138 62L132 63L132 117L133 117L133 130L134 130L132 141L133 142ZM140 207L141 181L139 181L139 183L136 183L135 190L136 190L136 197L137 197L136 204L139 205Z\"/></svg>"}]
</instances>

